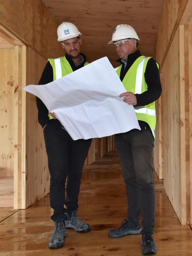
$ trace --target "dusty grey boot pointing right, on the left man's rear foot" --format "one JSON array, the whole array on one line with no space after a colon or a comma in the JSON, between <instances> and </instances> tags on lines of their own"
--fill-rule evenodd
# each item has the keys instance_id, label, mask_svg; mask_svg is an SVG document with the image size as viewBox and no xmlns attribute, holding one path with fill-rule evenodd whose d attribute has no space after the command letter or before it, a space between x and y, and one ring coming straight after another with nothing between
<instances>
[{"instance_id":1,"label":"dusty grey boot pointing right, on the left man's rear foot","mask_svg":"<svg viewBox=\"0 0 192 256\"><path fill-rule=\"evenodd\" d=\"M76 232L86 233L91 230L89 224L80 220L76 211L71 214L67 213L67 220L65 220L65 229L74 229Z\"/></svg>"}]
</instances>

